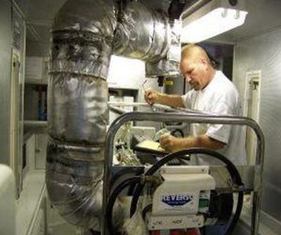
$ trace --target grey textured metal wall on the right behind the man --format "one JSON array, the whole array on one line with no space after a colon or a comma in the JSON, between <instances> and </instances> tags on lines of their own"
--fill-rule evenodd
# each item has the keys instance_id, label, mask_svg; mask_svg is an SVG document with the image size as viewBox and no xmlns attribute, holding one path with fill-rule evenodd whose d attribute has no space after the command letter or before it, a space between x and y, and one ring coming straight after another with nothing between
<instances>
[{"instance_id":1,"label":"grey textured metal wall on the right behind the man","mask_svg":"<svg viewBox=\"0 0 281 235\"><path fill-rule=\"evenodd\" d=\"M259 123L266 139L262 210L281 221L281 29L238 41L234 82L244 101L246 72L261 70ZM244 102L243 102L244 103Z\"/></svg>"}]
</instances>

